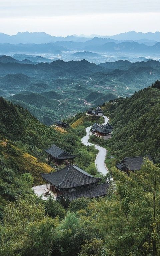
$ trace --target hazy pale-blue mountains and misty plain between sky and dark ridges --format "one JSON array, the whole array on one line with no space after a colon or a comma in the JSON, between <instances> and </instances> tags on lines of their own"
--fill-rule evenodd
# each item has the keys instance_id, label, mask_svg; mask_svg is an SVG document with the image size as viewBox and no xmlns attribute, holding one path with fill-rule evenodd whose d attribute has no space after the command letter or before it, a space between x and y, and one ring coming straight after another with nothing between
<instances>
[{"instance_id":1,"label":"hazy pale-blue mountains and misty plain between sky and dark ridges","mask_svg":"<svg viewBox=\"0 0 160 256\"><path fill-rule=\"evenodd\" d=\"M144 34L130 31L110 37L99 35L55 37L44 32L19 32L17 35L9 36L0 33L0 54L12 56L28 64L29 61L39 63L57 59L64 61L86 59L96 64L120 59L136 62L140 57L144 58L140 61L158 59L159 53L159 32ZM32 56L27 55L34 57L38 55L45 59L33 59Z\"/></svg>"}]
</instances>

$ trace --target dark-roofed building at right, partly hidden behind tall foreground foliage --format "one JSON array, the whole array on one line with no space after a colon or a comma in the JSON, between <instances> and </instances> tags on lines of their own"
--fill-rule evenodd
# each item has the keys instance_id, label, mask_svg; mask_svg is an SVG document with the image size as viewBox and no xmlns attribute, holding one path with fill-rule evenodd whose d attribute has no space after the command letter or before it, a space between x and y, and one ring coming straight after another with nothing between
<instances>
[{"instance_id":1,"label":"dark-roofed building at right, partly hidden behind tall foreground foliage","mask_svg":"<svg viewBox=\"0 0 160 256\"><path fill-rule=\"evenodd\" d=\"M133 157L125 157L120 164L117 164L116 167L123 172L129 174L129 171L139 171L141 170L141 166L143 165L144 158L148 157L150 161L152 158L150 155L143 156L133 156Z\"/></svg>"}]
</instances>

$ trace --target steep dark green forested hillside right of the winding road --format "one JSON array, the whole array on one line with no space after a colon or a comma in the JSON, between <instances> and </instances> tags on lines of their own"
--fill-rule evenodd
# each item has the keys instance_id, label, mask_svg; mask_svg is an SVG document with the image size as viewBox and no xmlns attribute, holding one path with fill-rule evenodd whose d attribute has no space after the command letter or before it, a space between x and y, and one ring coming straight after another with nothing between
<instances>
[{"instance_id":1,"label":"steep dark green forested hillside right of the winding road","mask_svg":"<svg viewBox=\"0 0 160 256\"><path fill-rule=\"evenodd\" d=\"M115 127L109 146L119 158L151 154L160 161L160 83L105 106Z\"/></svg>"}]
</instances>

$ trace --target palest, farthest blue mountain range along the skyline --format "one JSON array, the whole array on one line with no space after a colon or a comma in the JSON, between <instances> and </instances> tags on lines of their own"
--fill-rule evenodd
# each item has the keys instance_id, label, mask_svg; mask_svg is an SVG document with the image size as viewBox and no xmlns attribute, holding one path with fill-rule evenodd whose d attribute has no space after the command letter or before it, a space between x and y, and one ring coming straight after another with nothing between
<instances>
[{"instance_id":1,"label":"palest, farthest blue mountain range along the skyline","mask_svg":"<svg viewBox=\"0 0 160 256\"><path fill-rule=\"evenodd\" d=\"M9 44L46 44L46 43L52 43L57 41L73 41L73 42L86 42L89 39L92 39L94 37L102 38L102 39L110 39L110 40L116 40L116 41L135 41L138 43L154 43L154 42L160 42L160 32L148 32L148 33L142 33L142 32L135 32L135 31L129 31L126 33L121 33L114 36L100 36L100 35L91 35L91 36L85 36L85 35L72 35L67 37L56 37L51 36L49 34L46 34L44 32L18 32L17 35L7 35L4 33L0 33L0 42L1 44L9 43ZM113 41L111 41L113 42Z\"/></svg>"}]
</instances>

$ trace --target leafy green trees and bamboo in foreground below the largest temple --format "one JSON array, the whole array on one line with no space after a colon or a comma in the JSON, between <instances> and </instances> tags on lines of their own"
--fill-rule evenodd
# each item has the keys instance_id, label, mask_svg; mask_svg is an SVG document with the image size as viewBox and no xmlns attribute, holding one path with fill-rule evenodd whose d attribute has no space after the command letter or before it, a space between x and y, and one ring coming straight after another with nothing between
<instances>
[{"instance_id":1,"label":"leafy green trees and bamboo in foreground below the largest temple","mask_svg":"<svg viewBox=\"0 0 160 256\"><path fill-rule=\"evenodd\" d=\"M159 166L146 159L130 176L112 171L115 184L108 196L74 200L67 212L58 202L50 201L49 209L49 202L31 194L7 204L0 255L159 255Z\"/></svg>"}]
</instances>

